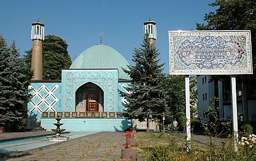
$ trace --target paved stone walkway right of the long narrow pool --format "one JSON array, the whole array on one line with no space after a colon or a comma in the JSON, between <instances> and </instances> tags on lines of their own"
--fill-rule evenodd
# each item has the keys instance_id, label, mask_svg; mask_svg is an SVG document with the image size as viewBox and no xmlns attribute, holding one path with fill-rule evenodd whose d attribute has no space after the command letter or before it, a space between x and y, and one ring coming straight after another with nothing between
<instances>
[{"instance_id":1,"label":"paved stone walkway right of the long narrow pool","mask_svg":"<svg viewBox=\"0 0 256 161\"><path fill-rule=\"evenodd\" d=\"M14 155L6 160L122 160L123 132L99 132Z\"/></svg>"}]
</instances>

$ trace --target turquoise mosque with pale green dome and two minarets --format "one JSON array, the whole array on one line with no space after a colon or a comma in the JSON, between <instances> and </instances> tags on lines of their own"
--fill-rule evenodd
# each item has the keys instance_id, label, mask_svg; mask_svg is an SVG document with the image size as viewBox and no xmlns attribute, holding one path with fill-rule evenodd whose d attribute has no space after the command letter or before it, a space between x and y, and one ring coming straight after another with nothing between
<instances>
[{"instance_id":1,"label":"turquoise mosque with pale green dome and two minarets","mask_svg":"<svg viewBox=\"0 0 256 161\"><path fill-rule=\"evenodd\" d=\"M146 32L155 43L154 21L144 23ZM34 77L29 86L33 95L28 103L29 129L54 129L57 116L68 131L123 131L131 126L122 114L128 102L118 93L128 93L125 88L131 83L122 70L129 66L122 54L101 41L83 51L69 69L61 70L61 81L42 80L44 24L39 20L32 24L31 39Z\"/></svg>"}]
</instances>

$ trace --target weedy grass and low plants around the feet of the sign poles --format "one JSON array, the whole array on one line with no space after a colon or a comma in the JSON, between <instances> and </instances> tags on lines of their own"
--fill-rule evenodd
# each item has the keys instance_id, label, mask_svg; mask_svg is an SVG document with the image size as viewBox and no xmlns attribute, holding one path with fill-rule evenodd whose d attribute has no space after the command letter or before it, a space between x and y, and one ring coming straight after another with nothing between
<instances>
[{"instance_id":1,"label":"weedy grass and low plants around the feet of the sign poles","mask_svg":"<svg viewBox=\"0 0 256 161\"><path fill-rule=\"evenodd\" d=\"M190 152L185 151L185 138L169 136L164 138L168 146L157 144L152 148L147 148L142 152L144 160L233 160L233 161L249 161L256 160L256 146L250 148L250 144L239 144L239 152L234 149L233 138L225 139L221 142L216 141L212 146L203 146L192 142ZM140 142L140 140L138 140ZM138 147L140 148L140 146Z\"/></svg>"}]
</instances>

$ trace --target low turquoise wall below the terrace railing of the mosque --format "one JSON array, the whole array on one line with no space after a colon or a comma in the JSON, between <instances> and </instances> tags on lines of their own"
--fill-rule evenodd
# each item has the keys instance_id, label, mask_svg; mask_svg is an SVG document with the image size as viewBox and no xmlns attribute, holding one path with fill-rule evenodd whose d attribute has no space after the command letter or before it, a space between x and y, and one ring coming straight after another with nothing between
<instances>
[{"instance_id":1,"label":"low turquoise wall below the terrace railing of the mosque","mask_svg":"<svg viewBox=\"0 0 256 161\"><path fill-rule=\"evenodd\" d=\"M53 123L55 118L41 118L41 127L47 131L56 129ZM61 129L69 132L102 132L125 131L131 126L131 121L125 118L63 118L60 121Z\"/></svg>"}]
</instances>

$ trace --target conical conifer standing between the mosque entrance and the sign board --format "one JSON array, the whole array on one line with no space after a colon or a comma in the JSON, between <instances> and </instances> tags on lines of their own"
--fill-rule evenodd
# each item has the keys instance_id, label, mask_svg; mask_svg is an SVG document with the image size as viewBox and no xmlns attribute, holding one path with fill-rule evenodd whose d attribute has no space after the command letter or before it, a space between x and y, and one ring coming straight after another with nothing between
<instances>
[{"instance_id":1,"label":"conical conifer standing between the mosque entrance and the sign board","mask_svg":"<svg viewBox=\"0 0 256 161\"><path fill-rule=\"evenodd\" d=\"M146 36L147 37L147 36ZM128 66L125 73L130 75L132 81L127 88L130 94L120 91L120 95L129 102L125 104L125 114L128 119L147 121L149 132L149 119L162 118L166 109L165 91L163 88L163 64L158 65L157 56L160 54L150 39L144 39L142 48L135 48L133 55L134 66Z\"/></svg>"}]
</instances>

